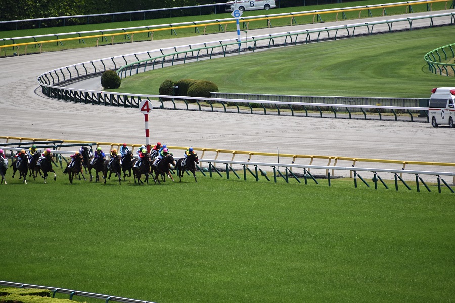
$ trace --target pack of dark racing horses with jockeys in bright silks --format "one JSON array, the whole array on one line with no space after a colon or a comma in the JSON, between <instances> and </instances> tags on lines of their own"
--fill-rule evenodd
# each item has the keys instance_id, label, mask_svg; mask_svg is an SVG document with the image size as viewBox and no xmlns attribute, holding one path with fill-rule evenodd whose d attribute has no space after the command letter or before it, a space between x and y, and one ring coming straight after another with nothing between
<instances>
[{"instance_id":1,"label":"pack of dark racing horses with jockeys in bright silks","mask_svg":"<svg viewBox=\"0 0 455 303\"><path fill-rule=\"evenodd\" d=\"M134 183L144 184L144 182L149 182L149 175L152 176L155 183L158 182L160 184L160 177L163 182L166 182L166 176L171 178L172 177L171 171L176 170L181 182L181 177L183 177L185 171L189 171L193 173L193 177L195 182L196 179L196 164L199 163L199 158L196 153L190 153L185 158L178 159L177 161L174 160L173 154L169 153L166 157L154 163L156 158L156 154L154 153L147 153L146 157L141 161L139 165L135 165L138 158L134 157L132 151L128 151L127 154L121 158L120 155L114 157L113 161L106 160L105 158L96 158L92 162L91 160L93 157L90 155L90 151L88 148L84 149L84 151L80 154L75 154L73 157L74 161L68 163L67 167L63 171L64 174L68 174L68 179L70 183L73 183L74 176L77 176L79 180L81 180L81 176L84 180L87 180L83 174L88 170L90 175L90 181L93 180L92 176L92 169L95 170L95 182L100 181L99 173L102 173L102 178L104 178L104 183L111 179L111 175L115 174L118 177L118 182L121 184L122 181L122 173L123 173L123 180L126 180L126 176L131 177L131 171L133 172ZM39 158L41 157L41 153L36 152L31 158L30 161L24 159L21 161L19 166L16 166L17 160L11 164L13 167L13 178L17 171L19 171L19 179L23 178L23 182L27 183L26 178L27 174L30 174L29 177L33 176L35 179L38 176L38 173L44 178L44 183L46 183L46 179L48 177L48 172L54 173L54 180L56 180L55 171L52 168L52 163L54 163L54 155L49 153L42 159L40 165L37 165ZM93 164L92 164L93 163ZM110 165L109 165L110 163ZM70 165L71 164L71 165ZM3 183L5 180L4 176L6 173L7 166L0 165L0 175L2 180L0 183ZM142 175L145 176L145 180L142 181ZM6 184L6 180L5 180Z\"/></svg>"}]
</instances>

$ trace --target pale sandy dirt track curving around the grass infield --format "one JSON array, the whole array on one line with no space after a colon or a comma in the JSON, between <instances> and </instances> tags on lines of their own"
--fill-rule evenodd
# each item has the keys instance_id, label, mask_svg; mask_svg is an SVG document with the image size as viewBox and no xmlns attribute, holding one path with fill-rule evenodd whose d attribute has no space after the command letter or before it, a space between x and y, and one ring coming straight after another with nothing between
<instances>
[{"instance_id":1,"label":"pale sandy dirt track curving around the grass infield","mask_svg":"<svg viewBox=\"0 0 455 303\"><path fill-rule=\"evenodd\" d=\"M417 21L415 22L417 24ZM325 26L330 24L326 23ZM321 24L302 27L315 28L321 27ZM296 30L297 27L293 26L292 29ZM288 30L263 29L258 30L257 34ZM250 32L252 35L255 34L254 31ZM145 143L144 117L138 109L105 108L46 99L35 92L38 88L36 77L45 71L90 59L191 44L195 41L232 38L233 35L235 33L201 35L1 58L0 135ZM422 56L427 51L428 49L422 49ZM433 128L429 123L170 110L154 110L150 120L152 143L161 141L170 146L271 152L276 152L278 147L280 153L288 154L403 161L453 162L454 159L455 131L448 127ZM210 156L213 155L206 154L204 158ZM246 158L236 157L239 161L244 159ZM260 158L253 160L257 161ZM308 162L309 160L299 160L296 164ZM325 165L327 161L315 164ZM372 167L372 164L358 166ZM395 165L390 168L401 166ZM406 168L417 169L410 166ZM431 166L426 169L442 170L440 167ZM454 171L453 168L444 170Z\"/></svg>"}]
</instances>

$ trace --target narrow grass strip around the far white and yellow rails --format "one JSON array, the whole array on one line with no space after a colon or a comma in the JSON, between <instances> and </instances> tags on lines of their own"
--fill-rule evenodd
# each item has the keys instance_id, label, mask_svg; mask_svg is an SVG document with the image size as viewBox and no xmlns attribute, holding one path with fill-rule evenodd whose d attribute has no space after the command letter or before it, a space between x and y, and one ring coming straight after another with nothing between
<instances>
[{"instance_id":1,"label":"narrow grass strip around the far white and yellow rails","mask_svg":"<svg viewBox=\"0 0 455 303\"><path fill-rule=\"evenodd\" d=\"M302 6L302 7L290 7L290 8L276 8L268 11L270 14L280 14L280 13L290 13L290 12L301 12L301 11L313 11L313 10L322 10L322 9L329 9L329 8L340 8L340 7L352 7L352 6L365 6L365 5L373 5L373 4L382 4L388 3L385 1L380 0L366 0L366 1L355 1L355 2L346 2L346 3L334 3L334 4L325 4L325 5L316 5L316 6ZM434 3L432 5L432 10L443 10L445 9L445 2L441 3ZM450 3L449 3L450 6ZM427 7L426 4L419 4L413 5L413 12L422 12L426 11ZM386 14L388 16L397 15L397 14L404 14L406 13L406 7L394 7L386 9ZM246 11L242 15L243 17L247 16L257 16L257 15L264 15L264 10L259 11ZM382 9L372 9L371 14L373 17L378 17L382 15ZM320 15L324 22L330 22L337 20L337 16L335 13L330 14L321 14ZM361 18L368 18L368 11L362 11ZM346 19L357 19L359 18L358 12L346 12L345 13ZM51 28L35 28L35 29L27 29L27 30L11 30L11 31L2 31L0 32L0 39L5 38L13 38L13 37L28 37L28 36L39 36L39 35L47 35L47 34L57 34L57 33L71 33L71 32L83 32L83 31L99 31L105 29L122 29L122 28L129 28L129 27L138 27L138 26L149 26L149 25L161 25L164 24L165 27L168 27L168 24L174 23L183 23L183 22L193 22L193 21L202 21L202 20L214 20L214 19L224 19L224 18L232 18L231 13L223 13L223 14L212 14L212 15L199 15L199 16L186 16L186 17L174 17L174 18L162 18L162 19L152 19L152 20L141 20L141 21L130 21L130 22L110 22L110 23L102 23L102 24L85 24L85 25L77 25L77 26L65 26L65 27L51 27ZM342 19L342 15L339 14L338 20ZM297 24L309 24L313 23L313 16L299 16L295 17L295 22ZM289 18L282 18L282 19L274 19L271 22L272 26L287 26L290 24ZM267 27L267 22L256 21L250 22L248 28L249 29L257 29L257 28L265 28ZM177 29L176 35L171 35L170 30L165 31L155 31L153 35L154 40L160 39L171 39L174 37L188 37L188 36L195 36L204 34L204 28L201 26L198 28L199 32L195 33L194 28L187 28L187 29ZM211 33L218 33L223 31L224 29L220 29L218 25L208 26L206 29L206 34ZM228 26L228 31L235 31L236 26L235 22ZM123 30L114 31L111 33L121 33ZM95 33L100 34L100 33ZM83 36L95 35L95 34L82 34ZM59 36L60 39L62 38L76 38L79 35L65 35ZM37 38L37 41L50 41L55 40L54 36L52 37L41 37ZM98 45L108 45L112 43L111 37L108 36L107 41L103 39L99 39ZM147 33L136 33L133 37L134 41L145 41L150 40L151 38L148 36ZM130 42L131 37L125 35L119 35L114 38L114 43L125 43ZM16 39L15 43L27 43L27 42L34 42L33 38L30 39ZM62 42L63 45L59 43L45 43L42 46L43 52L51 52L51 51L59 51L62 49L71 49L71 48L82 48L82 47L94 47L97 43L96 38L84 39L82 40L73 40L73 41L64 41ZM11 40L3 41L3 45L13 44ZM445 44L444 44L445 45ZM13 56L13 53L18 53L20 55L25 54L25 46L21 46L19 49L13 47L7 47L5 49L0 49L1 53L0 56ZM39 47L35 47L34 45L30 45L27 47L27 54L39 53Z\"/></svg>"}]
</instances>

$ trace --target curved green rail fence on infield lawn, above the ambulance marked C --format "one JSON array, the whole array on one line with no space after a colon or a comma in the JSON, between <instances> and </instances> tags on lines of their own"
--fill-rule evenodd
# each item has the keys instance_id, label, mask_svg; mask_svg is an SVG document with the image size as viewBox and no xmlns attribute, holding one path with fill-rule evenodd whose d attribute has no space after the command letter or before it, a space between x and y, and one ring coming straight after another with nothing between
<instances>
[{"instance_id":1,"label":"curved green rail fence on infield lawn, above the ambulance marked C","mask_svg":"<svg viewBox=\"0 0 455 303\"><path fill-rule=\"evenodd\" d=\"M428 64L428 70L436 75L455 76L455 63L450 63L455 58L453 48L455 48L455 43L433 49L425 54L424 60ZM442 60L446 62L442 62Z\"/></svg>"}]
</instances>

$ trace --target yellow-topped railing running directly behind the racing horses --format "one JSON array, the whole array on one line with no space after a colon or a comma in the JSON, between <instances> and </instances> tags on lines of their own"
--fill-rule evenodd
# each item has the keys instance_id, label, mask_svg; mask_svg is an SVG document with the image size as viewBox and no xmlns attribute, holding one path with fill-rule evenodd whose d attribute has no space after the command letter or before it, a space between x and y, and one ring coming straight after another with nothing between
<instances>
[{"instance_id":1,"label":"yellow-topped railing running directly behind the racing horses","mask_svg":"<svg viewBox=\"0 0 455 303\"><path fill-rule=\"evenodd\" d=\"M15 140L19 141L22 143L22 141L30 141L30 142L36 142L36 141L63 141L64 143L81 143L81 144L87 144L87 143L94 143L94 141L77 141L77 140L59 140L59 139L43 139L43 138L26 138L26 137L6 137L6 136L0 136L0 139L6 139L5 143L8 143L9 140ZM112 142L96 142L97 147L98 146L109 146L109 153L110 151L114 148L117 147L120 148L120 146L123 145L124 142L122 143L112 143ZM140 147L141 145L144 144L128 144L128 146L133 147L132 151L134 151L135 147ZM0 146L2 144L0 143ZM167 146L169 149L180 149L180 150L186 150L188 147L182 147L182 146ZM60 149L60 148L59 148ZM216 153L215 154L215 160L218 159L218 156L220 154L224 155L232 155L231 161L234 160L234 157L236 155L248 155L248 162L250 162L252 156L265 156L265 157L282 157L282 158L292 158L292 164L294 164L295 160L297 158L307 158L310 159L310 162L308 165L312 165L314 159L325 159L328 161L327 166L330 166L332 164L332 161L334 161L332 166L336 166L338 160L344 160L344 161L351 161L352 166L354 167L357 162L370 162L370 163L390 163L390 164L399 164L403 165L402 169L406 167L406 165L432 165L432 166L444 166L444 167L455 167L455 163L451 162L429 162L429 161L402 161L402 160L390 160L390 159L370 159L370 158L354 158L354 157L339 157L339 156L322 156L322 155L294 155L294 154L277 154L277 153L263 153L259 151L244 151L244 150L230 150L230 149L216 149L216 148L200 148L200 147L193 147L194 150L197 151L202 151L202 154L200 158L204 158L204 154L207 152L210 153ZM326 175L328 174L329 170L326 170ZM332 176L335 176L334 170L332 170ZM351 172L351 178L352 178L352 172ZM455 183L455 177L453 177L453 183Z\"/></svg>"}]
</instances>

